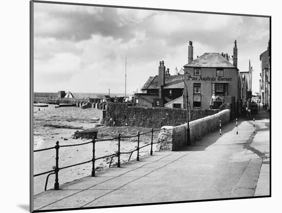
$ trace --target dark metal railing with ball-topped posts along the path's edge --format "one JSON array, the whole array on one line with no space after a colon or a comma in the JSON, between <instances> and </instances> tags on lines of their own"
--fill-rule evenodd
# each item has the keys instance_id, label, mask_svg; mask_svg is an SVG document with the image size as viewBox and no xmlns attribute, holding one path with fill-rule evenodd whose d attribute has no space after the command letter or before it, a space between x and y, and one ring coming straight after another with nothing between
<instances>
[{"instance_id":1,"label":"dark metal railing with ball-topped posts along the path's edge","mask_svg":"<svg viewBox=\"0 0 282 213\"><path fill-rule=\"evenodd\" d=\"M33 152L39 152L39 151L45 151L45 150L50 150L50 149L55 149L56 150L56 157L55 157L55 160L56 160L56 165L53 166L53 170L49 170L49 171L45 171L45 172L42 172L42 173L38 173L36 175L34 175L33 177L37 177L37 176L42 176L42 175L46 175L47 173L48 176L46 177L46 182L45 182L45 188L44 190L46 191L47 190L47 184L48 184L48 179L49 179L49 176L50 175L55 175L55 184L54 184L54 189L55 190L58 190L59 189L59 182L58 182L58 172L59 170L62 170L62 169L66 169L66 168L70 168L70 167L73 167L73 166L78 166L78 165L82 165L82 164L86 164L86 163L90 163L92 162L92 172L91 172L91 176L92 177L95 177L95 161L99 160L99 159L103 159L103 158L109 158L111 157L111 161L110 161L110 164L109 164L109 168L111 167L111 164L112 164L112 160L114 157L117 157L117 167L120 168L120 154L130 154L129 158L128 158L128 161L130 161L130 158L132 156L132 153L134 151L137 151L137 157L136 157L136 161L139 161L139 149L142 149L146 146L151 146L151 149L150 149L150 156L153 155L153 144L158 144L162 141L157 141L157 142L153 142L153 134L154 132L157 132L157 131L160 131L162 129L157 129L157 130L154 130L152 128L151 131L148 131L148 132L144 132L144 133L140 133L138 131L137 135L132 135L132 136L121 136L120 134L118 134L117 137L115 138L111 138L111 139L104 139L104 140L97 140L95 138L92 139L92 141L89 141L89 142L86 142L86 143L81 143L81 144L72 144L72 145L59 145L59 142L57 141L56 142L56 145L53 146L53 147L49 147L49 148L45 148L45 149L37 149L37 150L34 150ZM148 133L151 133L151 143L149 144L146 144L144 146L139 146L140 144L140 136L144 135L144 134L148 134ZM123 139L123 138L135 138L137 137L137 146L135 146L135 149L132 150L132 151L129 151L129 152L120 152L120 139ZM108 156L103 156L103 157L99 157L99 158L95 158L95 144L96 142L102 142L102 141L112 141L112 140L118 140L118 144L117 144L117 151L115 151L115 153L113 154L110 154ZM82 162L82 163L76 163L76 164L72 164L72 165L69 165L69 166L64 166L64 167L59 167L59 148L60 147L70 147L70 146L81 146L81 145L86 145L86 144L90 144L92 143L93 145L93 149L92 149L92 159L89 160L89 161L85 161L85 162Z\"/></svg>"}]
</instances>

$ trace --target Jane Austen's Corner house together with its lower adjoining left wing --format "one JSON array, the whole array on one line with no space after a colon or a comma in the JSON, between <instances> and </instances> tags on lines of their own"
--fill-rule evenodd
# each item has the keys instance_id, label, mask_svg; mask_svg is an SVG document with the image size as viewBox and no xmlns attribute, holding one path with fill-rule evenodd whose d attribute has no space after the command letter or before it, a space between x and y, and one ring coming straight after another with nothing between
<instances>
[{"instance_id":1,"label":"Jane Austen's Corner house together with its lower adjoining left wing","mask_svg":"<svg viewBox=\"0 0 282 213\"><path fill-rule=\"evenodd\" d=\"M189 42L188 64L175 75L166 70L164 61L159 63L158 75L151 76L142 87L142 93L135 94L139 106L186 108L187 82L190 109L218 109L223 103L230 103L233 113L238 111L237 43L233 55L227 53L205 53L193 59L193 46ZM190 73L188 80L185 73Z\"/></svg>"}]
</instances>

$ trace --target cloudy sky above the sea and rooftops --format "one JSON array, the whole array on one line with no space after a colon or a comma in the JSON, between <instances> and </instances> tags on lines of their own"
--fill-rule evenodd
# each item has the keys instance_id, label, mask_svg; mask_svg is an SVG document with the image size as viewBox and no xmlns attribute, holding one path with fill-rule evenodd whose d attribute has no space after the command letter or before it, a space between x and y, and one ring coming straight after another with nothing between
<instances>
[{"instance_id":1,"label":"cloudy sky above the sea and rooftops","mask_svg":"<svg viewBox=\"0 0 282 213\"><path fill-rule=\"evenodd\" d=\"M253 67L259 91L259 55L267 50L269 18L34 3L34 91L125 93L158 74L159 61L174 74L205 52L233 55L238 69ZM125 66L127 59L127 66Z\"/></svg>"}]
</instances>

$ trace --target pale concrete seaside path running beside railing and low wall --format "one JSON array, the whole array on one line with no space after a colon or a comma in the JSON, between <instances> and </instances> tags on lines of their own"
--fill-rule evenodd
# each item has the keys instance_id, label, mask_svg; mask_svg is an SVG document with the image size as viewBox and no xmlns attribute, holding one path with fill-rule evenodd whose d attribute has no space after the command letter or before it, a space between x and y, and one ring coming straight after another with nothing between
<instances>
[{"instance_id":1,"label":"pale concrete seaside path running beside railing and low wall","mask_svg":"<svg viewBox=\"0 0 282 213\"><path fill-rule=\"evenodd\" d=\"M181 151L97 172L34 198L34 210L269 196L269 119L238 121ZM252 119L252 117L250 118Z\"/></svg>"}]
</instances>

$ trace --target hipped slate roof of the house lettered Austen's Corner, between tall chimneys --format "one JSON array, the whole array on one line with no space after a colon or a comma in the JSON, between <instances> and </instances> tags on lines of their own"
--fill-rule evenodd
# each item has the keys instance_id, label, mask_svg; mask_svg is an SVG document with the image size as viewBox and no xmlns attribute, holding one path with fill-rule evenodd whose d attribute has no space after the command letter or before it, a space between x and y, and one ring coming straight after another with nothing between
<instances>
[{"instance_id":1,"label":"hipped slate roof of the house lettered Austen's Corner, between tall chimneys","mask_svg":"<svg viewBox=\"0 0 282 213\"><path fill-rule=\"evenodd\" d=\"M220 53L207 52L192 62L186 64L184 67L223 67L223 68L236 68Z\"/></svg>"}]
</instances>

